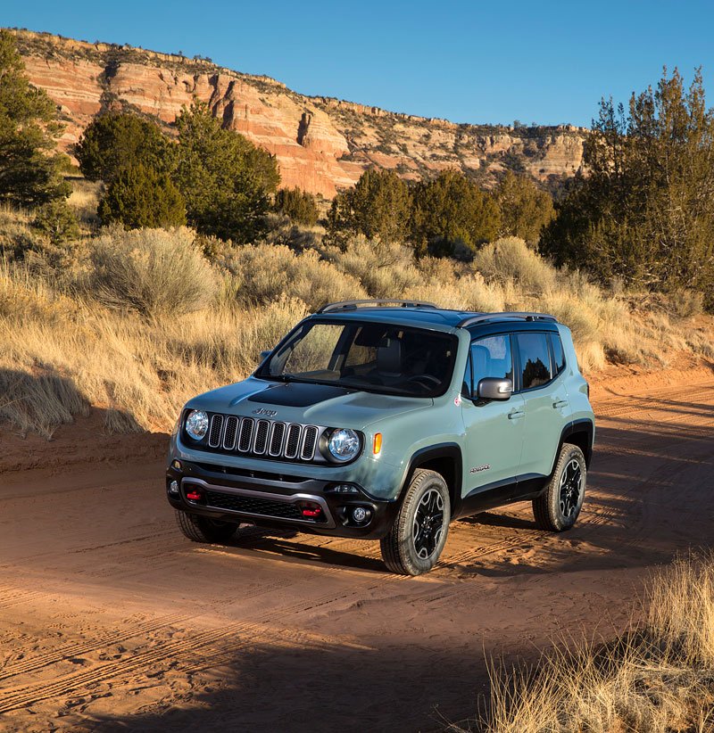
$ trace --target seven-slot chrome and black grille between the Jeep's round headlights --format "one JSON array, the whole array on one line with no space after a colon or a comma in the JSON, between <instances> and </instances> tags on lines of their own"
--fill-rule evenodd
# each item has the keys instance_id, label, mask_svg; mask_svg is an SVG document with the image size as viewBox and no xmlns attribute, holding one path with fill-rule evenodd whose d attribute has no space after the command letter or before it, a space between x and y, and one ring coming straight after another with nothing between
<instances>
[{"instance_id":1,"label":"seven-slot chrome and black grille between the Jeep's round headlights","mask_svg":"<svg viewBox=\"0 0 714 733\"><path fill-rule=\"evenodd\" d=\"M211 416L208 446L249 456L311 461L319 436L317 425L214 414Z\"/></svg>"}]
</instances>

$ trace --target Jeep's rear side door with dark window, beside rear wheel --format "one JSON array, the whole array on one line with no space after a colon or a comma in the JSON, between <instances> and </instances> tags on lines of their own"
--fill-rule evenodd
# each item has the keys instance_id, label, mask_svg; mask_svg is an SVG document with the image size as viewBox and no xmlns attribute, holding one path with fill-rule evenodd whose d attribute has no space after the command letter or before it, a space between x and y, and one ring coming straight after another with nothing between
<instances>
[{"instance_id":1,"label":"Jeep's rear side door with dark window, beside rear wheel","mask_svg":"<svg viewBox=\"0 0 714 733\"><path fill-rule=\"evenodd\" d=\"M514 334L517 389L524 400L521 474L525 478L551 473L560 435L568 422L569 401L560 355L552 350L558 334L539 331ZM560 373L559 373L560 369Z\"/></svg>"}]
</instances>

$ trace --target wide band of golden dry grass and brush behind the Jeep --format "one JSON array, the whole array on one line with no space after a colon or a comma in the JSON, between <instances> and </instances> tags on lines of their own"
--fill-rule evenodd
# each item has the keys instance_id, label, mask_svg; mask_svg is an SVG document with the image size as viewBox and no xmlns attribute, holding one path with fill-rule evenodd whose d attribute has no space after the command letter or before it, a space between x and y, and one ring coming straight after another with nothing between
<instances>
[{"instance_id":1,"label":"wide band of golden dry grass and brush behind the Jeep","mask_svg":"<svg viewBox=\"0 0 714 733\"><path fill-rule=\"evenodd\" d=\"M287 232L301 251L202 246L187 229L113 229L61 246L33 241L17 258L12 243L36 236L29 221L0 210L0 416L21 432L49 436L89 405L104 408L109 430L168 430L187 398L245 378L299 318L350 298L551 311L571 326L586 371L607 360L662 363L677 350L714 356L689 321L637 311L631 294L557 272L519 240L465 265L363 238L331 248L320 227Z\"/></svg>"}]
</instances>

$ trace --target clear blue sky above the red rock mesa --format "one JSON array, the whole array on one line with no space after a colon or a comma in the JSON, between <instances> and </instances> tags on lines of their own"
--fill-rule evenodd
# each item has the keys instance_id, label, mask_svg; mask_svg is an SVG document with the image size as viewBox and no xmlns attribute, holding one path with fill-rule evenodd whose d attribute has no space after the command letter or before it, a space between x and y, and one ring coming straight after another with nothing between
<instances>
[{"instance_id":1,"label":"clear blue sky above the red rock mesa","mask_svg":"<svg viewBox=\"0 0 714 733\"><path fill-rule=\"evenodd\" d=\"M46 2L0 25L210 56L303 94L455 122L589 125L663 65L714 84L714 3ZM710 95L710 102L714 91Z\"/></svg>"}]
</instances>

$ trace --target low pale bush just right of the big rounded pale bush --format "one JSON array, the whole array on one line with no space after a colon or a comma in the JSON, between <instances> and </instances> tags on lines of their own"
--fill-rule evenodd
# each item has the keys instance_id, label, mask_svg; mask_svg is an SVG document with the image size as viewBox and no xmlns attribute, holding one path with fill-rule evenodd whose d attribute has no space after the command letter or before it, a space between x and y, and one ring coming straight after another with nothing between
<instances>
[{"instance_id":1,"label":"low pale bush just right of the big rounded pale bush","mask_svg":"<svg viewBox=\"0 0 714 733\"><path fill-rule=\"evenodd\" d=\"M320 260L316 251L298 255L281 245L245 245L227 249L215 261L232 276L228 297L244 306L287 297L314 310L330 301L367 297L353 276Z\"/></svg>"}]
</instances>

